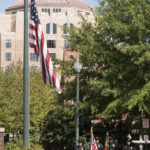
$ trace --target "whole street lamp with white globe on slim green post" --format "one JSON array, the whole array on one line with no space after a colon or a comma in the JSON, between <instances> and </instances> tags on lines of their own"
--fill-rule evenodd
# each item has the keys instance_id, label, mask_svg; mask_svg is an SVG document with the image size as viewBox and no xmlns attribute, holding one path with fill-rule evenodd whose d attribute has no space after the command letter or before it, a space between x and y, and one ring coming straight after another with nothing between
<instances>
[{"instance_id":1,"label":"whole street lamp with white globe on slim green post","mask_svg":"<svg viewBox=\"0 0 150 150\"><path fill-rule=\"evenodd\" d=\"M82 69L82 64L79 61L79 58L76 59L76 62L74 63L74 69L76 71L76 146L78 145L79 140L79 75Z\"/></svg>"}]
</instances>

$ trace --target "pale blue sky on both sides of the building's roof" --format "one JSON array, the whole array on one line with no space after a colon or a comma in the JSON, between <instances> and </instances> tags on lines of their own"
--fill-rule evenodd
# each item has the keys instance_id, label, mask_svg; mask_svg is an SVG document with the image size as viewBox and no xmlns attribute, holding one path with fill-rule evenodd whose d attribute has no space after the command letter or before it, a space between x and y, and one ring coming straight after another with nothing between
<instances>
[{"instance_id":1,"label":"pale blue sky on both sides of the building's roof","mask_svg":"<svg viewBox=\"0 0 150 150\"><path fill-rule=\"evenodd\" d=\"M4 14L6 7L11 5L12 3L16 2L16 1L17 0L0 0L0 14ZM98 5L97 0L82 0L82 1L91 5L92 7L95 7Z\"/></svg>"}]
</instances>

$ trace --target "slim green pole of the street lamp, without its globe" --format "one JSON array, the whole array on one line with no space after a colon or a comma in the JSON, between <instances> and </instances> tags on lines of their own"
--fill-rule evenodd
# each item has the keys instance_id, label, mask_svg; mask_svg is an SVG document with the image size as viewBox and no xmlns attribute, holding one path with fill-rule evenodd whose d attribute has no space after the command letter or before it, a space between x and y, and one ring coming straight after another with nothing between
<instances>
[{"instance_id":1,"label":"slim green pole of the street lamp, without its globe","mask_svg":"<svg viewBox=\"0 0 150 150\"><path fill-rule=\"evenodd\" d=\"M79 72L76 73L77 89L76 89L76 146L79 140Z\"/></svg>"}]
</instances>

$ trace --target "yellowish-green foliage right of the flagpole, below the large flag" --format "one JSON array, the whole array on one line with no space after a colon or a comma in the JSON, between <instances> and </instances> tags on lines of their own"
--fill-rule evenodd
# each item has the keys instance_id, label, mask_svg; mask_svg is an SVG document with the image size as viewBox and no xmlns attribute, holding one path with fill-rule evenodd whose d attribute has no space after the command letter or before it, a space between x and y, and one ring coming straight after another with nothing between
<instances>
[{"instance_id":1,"label":"yellowish-green foliage right of the flagpole, below the large flag","mask_svg":"<svg viewBox=\"0 0 150 150\"><path fill-rule=\"evenodd\" d=\"M58 94L54 87L43 83L40 71L30 73L30 131L39 133L43 127L44 117L55 108Z\"/></svg>"}]
</instances>

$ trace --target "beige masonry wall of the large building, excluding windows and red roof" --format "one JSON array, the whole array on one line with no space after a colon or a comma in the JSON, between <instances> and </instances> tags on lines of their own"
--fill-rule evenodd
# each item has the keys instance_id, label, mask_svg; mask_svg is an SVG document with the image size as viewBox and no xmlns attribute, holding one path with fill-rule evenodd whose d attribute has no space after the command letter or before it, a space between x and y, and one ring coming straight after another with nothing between
<instances>
[{"instance_id":1,"label":"beige masonry wall of the large building, excluding windows and red roof","mask_svg":"<svg viewBox=\"0 0 150 150\"><path fill-rule=\"evenodd\" d=\"M63 25L73 24L79 27L81 21L78 16L79 12L86 16L90 21L94 20L93 15L88 8L81 8L77 6L68 5L38 5L38 13L40 16L41 25L43 28L45 40L56 40L56 48L49 48L49 53L55 53L56 58L63 60L64 58L64 38L63 38ZM20 11L23 8L8 9L7 15L0 15L0 66L5 68L10 63L16 63L18 60L23 61L24 54L24 12ZM43 9L48 9L50 12L44 12ZM53 9L61 9L61 12L53 12ZM90 13L90 15L89 15ZM46 33L46 24L50 23L50 34ZM57 24L57 34L53 34L53 23ZM11 39L12 47L6 48L5 42ZM12 60L10 62L5 60L6 53L12 53ZM40 66L40 62L31 61L30 55L34 50L29 48L29 65Z\"/></svg>"}]
</instances>

